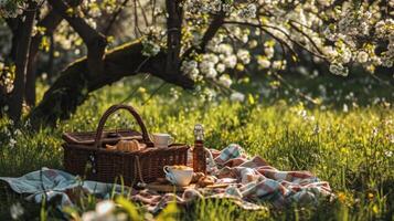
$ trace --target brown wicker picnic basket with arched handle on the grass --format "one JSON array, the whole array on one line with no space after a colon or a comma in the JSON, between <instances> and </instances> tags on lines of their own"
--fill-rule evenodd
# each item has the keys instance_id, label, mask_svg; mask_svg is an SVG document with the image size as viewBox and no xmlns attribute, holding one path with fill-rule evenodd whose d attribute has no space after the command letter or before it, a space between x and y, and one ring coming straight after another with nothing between
<instances>
[{"instance_id":1,"label":"brown wicker picnic basket with arched handle on the grass","mask_svg":"<svg viewBox=\"0 0 394 221\"><path fill-rule=\"evenodd\" d=\"M128 110L137 120L141 134L135 130L104 130L108 117L119 109ZM173 144L157 148L151 141L140 115L127 105L114 105L103 115L96 131L63 134L64 167L88 180L114 182L121 180L129 186L151 182L164 177L166 165L187 165L189 146ZM109 150L120 139L137 139L146 148L136 151Z\"/></svg>"}]
</instances>

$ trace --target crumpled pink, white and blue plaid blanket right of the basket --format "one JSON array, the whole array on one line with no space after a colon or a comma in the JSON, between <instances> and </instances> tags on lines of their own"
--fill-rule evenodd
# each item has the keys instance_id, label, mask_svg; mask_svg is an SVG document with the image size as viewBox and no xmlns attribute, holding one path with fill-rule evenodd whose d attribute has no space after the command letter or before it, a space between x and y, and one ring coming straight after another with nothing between
<instances>
[{"instance_id":1,"label":"crumpled pink, white and blue plaid blanket right of the basket","mask_svg":"<svg viewBox=\"0 0 394 221\"><path fill-rule=\"evenodd\" d=\"M225 189L187 189L182 194L143 190L131 197L146 204L149 211L157 212L170 201L188 204L195 198L231 199L246 210L263 209L260 202L269 201L277 208L291 202L318 203L323 197L332 197L328 182L320 181L309 171L280 171L269 166L263 158L248 157L241 146L232 144L222 151L211 149L207 162L210 175L217 183L230 183Z\"/></svg>"}]
</instances>

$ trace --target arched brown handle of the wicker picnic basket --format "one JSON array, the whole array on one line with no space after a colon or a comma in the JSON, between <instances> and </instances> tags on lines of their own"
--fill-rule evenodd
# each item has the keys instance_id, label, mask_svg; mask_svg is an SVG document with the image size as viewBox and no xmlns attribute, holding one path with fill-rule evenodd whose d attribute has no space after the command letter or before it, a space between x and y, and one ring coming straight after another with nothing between
<instances>
[{"instance_id":1,"label":"arched brown handle of the wicker picnic basket","mask_svg":"<svg viewBox=\"0 0 394 221\"><path fill-rule=\"evenodd\" d=\"M119 109L127 109L134 116L134 118L137 120L139 127L142 130L143 143L147 145L147 147L153 147L155 145L149 137L147 127L145 126L141 116L137 113L137 110L134 107L131 107L129 105L124 105L124 104L113 105L104 113L104 115L102 116L102 118L98 123L98 126L97 126L95 147L99 148L102 145L102 136L103 136L104 125L107 122L108 117Z\"/></svg>"}]
</instances>

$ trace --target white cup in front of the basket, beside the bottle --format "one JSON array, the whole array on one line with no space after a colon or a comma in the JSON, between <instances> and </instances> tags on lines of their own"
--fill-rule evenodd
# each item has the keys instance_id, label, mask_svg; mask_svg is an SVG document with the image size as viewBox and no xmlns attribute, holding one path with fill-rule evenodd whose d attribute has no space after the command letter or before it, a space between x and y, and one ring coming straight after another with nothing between
<instances>
[{"instance_id":1,"label":"white cup in front of the basket, beside the bottle","mask_svg":"<svg viewBox=\"0 0 394 221\"><path fill-rule=\"evenodd\" d=\"M181 167L181 168L180 168ZM193 178L193 168L187 166L164 166L166 179L172 185L184 187Z\"/></svg>"}]
</instances>

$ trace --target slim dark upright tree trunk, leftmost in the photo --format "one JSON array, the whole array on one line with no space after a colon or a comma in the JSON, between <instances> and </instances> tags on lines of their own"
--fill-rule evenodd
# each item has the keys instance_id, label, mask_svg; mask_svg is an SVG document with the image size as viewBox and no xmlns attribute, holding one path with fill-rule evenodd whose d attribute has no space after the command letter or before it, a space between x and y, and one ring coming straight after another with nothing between
<instances>
[{"instance_id":1,"label":"slim dark upright tree trunk, leftmost in the photo","mask_svg":"<svg viewBox=\"0 0 394 221\"><path fill-rule=\"evenodd\" d=\"M31 43L31 34L33 30L33 23L35 19L35 8L36 3L30 2L29 8L25 11L24 22L20 27L19 41L17 48L15 56L15 80L13 83L13 90L9 99L9 114L10 117L18 122L22 114L22 105L24 97L24 85L25 85L25 75L28 67L29 50Z\"/></svg>"}]
</instances>

